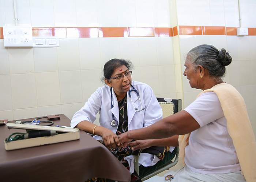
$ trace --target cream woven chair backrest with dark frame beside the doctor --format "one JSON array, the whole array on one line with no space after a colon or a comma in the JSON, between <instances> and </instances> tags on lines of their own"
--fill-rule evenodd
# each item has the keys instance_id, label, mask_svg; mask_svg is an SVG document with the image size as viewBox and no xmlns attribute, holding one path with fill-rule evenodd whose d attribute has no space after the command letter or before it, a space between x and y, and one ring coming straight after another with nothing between
<instances>
[{"instance_id":1,"label":"cream woven chair backrest with dark frame beside the doctor","mask_svg":"<svg viewBox=\"0 0 256 182\"><path fill-rule=\"evenodd\" d=\"M163 118L181 111L181 99L157 98L163 111Z\"/></svg>"}]
</instances>

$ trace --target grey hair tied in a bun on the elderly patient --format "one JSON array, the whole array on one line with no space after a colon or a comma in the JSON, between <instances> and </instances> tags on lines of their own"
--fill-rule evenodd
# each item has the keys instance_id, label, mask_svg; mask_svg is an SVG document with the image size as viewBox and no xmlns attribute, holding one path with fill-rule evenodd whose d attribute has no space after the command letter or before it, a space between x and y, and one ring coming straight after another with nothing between
<instances>
[{"instance_id":1,"label":"grey hair tied in a bun on the elderly patient","mask_svg":"<svg viewBox=\"0 0 256 182\"><path fill-rule=\"evenodd\" d=\"M225 66L231 63L232 58L223 48L219 51L212 45L202 44L188 52L187 60L192 63L195 68L201 65L209 71L212 77L220 78L225 75Z\"/></svg>"}]
</instances>

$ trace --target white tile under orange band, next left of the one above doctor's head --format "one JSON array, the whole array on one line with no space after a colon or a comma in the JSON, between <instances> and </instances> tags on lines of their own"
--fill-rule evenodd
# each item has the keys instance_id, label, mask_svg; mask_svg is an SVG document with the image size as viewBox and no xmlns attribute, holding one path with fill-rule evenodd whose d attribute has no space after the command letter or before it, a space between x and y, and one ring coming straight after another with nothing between
<instances>
[{"instance_id":1,"label":"white tile under orange band, next left of the one above doctor's head","mask_svg":"<svg viewBox=\"0 0 256 182\"><path fill-rule=\"evenodd\" d=\"M80 38L78 41L81 70L101 68L99 39Z\"/></svg>"}]
</instances>

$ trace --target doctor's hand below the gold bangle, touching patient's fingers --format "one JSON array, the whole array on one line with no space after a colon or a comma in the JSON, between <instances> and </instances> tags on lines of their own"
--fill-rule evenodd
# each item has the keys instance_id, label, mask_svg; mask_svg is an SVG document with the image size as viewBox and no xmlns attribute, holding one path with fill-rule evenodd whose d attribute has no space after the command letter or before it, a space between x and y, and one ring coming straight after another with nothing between
<instances>
[{"instance_id":1,"label":"doctor's hand below the gold bangle, touching patient's fingers","mask_svg":"<svg viewBox=\"0 0 256 182\"><path fill-rule=\"evenodd\" d=\"M118 136L114 134L111 130L104 128L101 133L102 140L108 149L116 149L120 146Z\"/></svg>"}]
</instances>

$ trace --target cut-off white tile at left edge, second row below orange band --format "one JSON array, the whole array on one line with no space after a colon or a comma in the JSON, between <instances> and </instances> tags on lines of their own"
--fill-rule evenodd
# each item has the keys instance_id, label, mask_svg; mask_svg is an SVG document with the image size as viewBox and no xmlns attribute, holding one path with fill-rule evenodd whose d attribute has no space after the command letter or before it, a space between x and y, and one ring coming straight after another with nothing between
<instances>
[{"instance_id":1,"label":"cut-off white tile at left edge, second row below orange band","mask_svg":"<svg viewBox=\"0 0 256 182\"><path fill-rule=\"evenodd\" d=\"M10 75L0 75L0 111L12 109Z\"/></svg>"}]
</instances>

